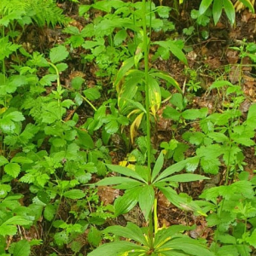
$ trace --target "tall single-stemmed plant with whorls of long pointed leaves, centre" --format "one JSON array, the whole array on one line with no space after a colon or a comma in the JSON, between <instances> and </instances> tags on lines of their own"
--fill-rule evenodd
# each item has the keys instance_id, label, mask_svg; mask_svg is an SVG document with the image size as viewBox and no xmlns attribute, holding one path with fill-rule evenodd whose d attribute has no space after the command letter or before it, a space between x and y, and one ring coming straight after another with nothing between
<instances>
[{"instance_id":1,"label":"tall single-stemmed plant with whorls of long pointed leaves, centre","mask_svg":"<svg viewBox=\"0 0 256 256\"><path fill-rule=\"evenodd\" d=\"M115 3L115 2L114 2ZM107 236L113 234L117 237L123 237L122 240L103 244L97 247L96 250L89 253L90 256L104 253L108 256L116 255L214 255L207 246L200 241L191 239L189 236L183 235L183 231L191 230L193 227L185 227L181 225L173 225L169 228L160 229L157 219L157 193L160 191L166 198L175 206L184 211L193 211L197 214L204 214L189 195L178 195L175 188L178 183L189 182L195 180L207 179L201 175L193 173L176 174L182 171L186 166L194 165L194 158L181 160L177 164L167 167L162 171L164 166L164 155L160 153L155 161L152 169L152 148L151 148L151 116L155 117L155 113L160 107L160 85L158 78L165 79L177 87L177 82L168 76L166 73L161 73L154 69L149 69L148 52L150 43L150 24L151 20L151 3L143 1L137 3L141 6L140 12L137 13L137 19L142 24L140 44L137 46L136 55L124 61L117 73L114 85L119 93L119 108L128 108L130 113L137 113L138 116L145 116L146 124L146 143L147 143L147 166L136 165L134 170L125 166L107 165L108 169L118 174L118 176L106 177L96 183L99 186L112 185L115 189L124 189L125 194L119 196L114 201L114 214L119 216L125 212L131 211L137 204L143 212L147 226L144 228L138 227L136 224L128 223L126 227L112 226L103 230L102 233ZM154 17L154 16L153 16ZM150 33L149 33L150 36ZM139 37L138 37L139 38ZM179 49L172 41L164 41L155 43L169 51L175 52L177 57L184 61L182 50ZM172 46L174 47L172 48ZM143 61L143 70L139 69L140 63ZM137 67L136 69L132 67ZM134 74L136 81L131 81ZM122 78L125 81L121 83ZM129 83L129 81L131 83ZM131 87L129 87L131 84ZM135 85L132 85L135 84ZM137 102L135 94L137 87L145 95L145 107L143 103ZM129 90L130 89L130 90ZM132 89L132 90L131 90ZM129 95L130 93L130 95ZM136 110L138 109L138 111ZM137 112L136 112L136 111ZM137 119L137 118L136 118ZM139 126L140 121L136 121ZM161 172L162 171L162 172Z\"/></svg>"}]
</instances>

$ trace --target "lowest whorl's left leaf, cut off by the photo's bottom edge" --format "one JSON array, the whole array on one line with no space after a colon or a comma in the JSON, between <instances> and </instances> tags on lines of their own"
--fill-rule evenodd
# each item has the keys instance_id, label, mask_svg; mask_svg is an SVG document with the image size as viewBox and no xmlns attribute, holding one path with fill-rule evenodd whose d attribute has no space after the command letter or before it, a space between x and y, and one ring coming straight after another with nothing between
<instances>
[{"instance_id":1,"label":"lowest whorl's left leaf, cut off by the photo's bottom edge","mask_svg":"<svg viewBox=\"0 0 256 256\"><path fill-rule=\"evenodd\" d=\"M97 247L91 253L88 253L88 256L99 256L99 255L106 255L106 256L117 256L121 255L121 253L125 252L145 252L145 248L141 247L135 243L130 241L113 241L110 243L105 243L100 247Z\"/></svg>"}]
</instances>

